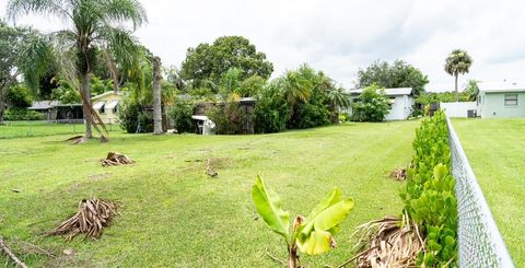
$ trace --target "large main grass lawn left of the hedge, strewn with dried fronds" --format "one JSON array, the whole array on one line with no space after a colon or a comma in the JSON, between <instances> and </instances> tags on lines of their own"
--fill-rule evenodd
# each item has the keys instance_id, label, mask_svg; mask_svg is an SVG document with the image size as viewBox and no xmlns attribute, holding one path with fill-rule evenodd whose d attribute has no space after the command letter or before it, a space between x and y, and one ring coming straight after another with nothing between
<instances>
[{"instance_id":1,"label":"large main grass lawn left of the hedge, strewn with dried fronds","mask_svg":"<svg viewBox=\"0 0 525 268\"><path fill-rule=\"evenodd\" d=\"M336 235L339 247L303 258L310 267L337 265L353 255L357 225L400 213L402 183L387 174L410 161L418 125L343 124L258 136L114 132L109 143L81 145L63 142L66 135L1 139L0 234L32 267L276 267L266 250L284 258L283 241L257 217L250 198L260 174L292 215L307 214L334 187L354 199ZM137 164L102 167L108 151ZM200 162L208 158L220 160L215 178ZM43 236L90 197L120 205L101 240L68 244ZM74 254L63 255L66 248Z\"/></svg>"}]
</instances>

